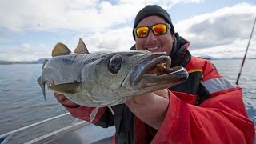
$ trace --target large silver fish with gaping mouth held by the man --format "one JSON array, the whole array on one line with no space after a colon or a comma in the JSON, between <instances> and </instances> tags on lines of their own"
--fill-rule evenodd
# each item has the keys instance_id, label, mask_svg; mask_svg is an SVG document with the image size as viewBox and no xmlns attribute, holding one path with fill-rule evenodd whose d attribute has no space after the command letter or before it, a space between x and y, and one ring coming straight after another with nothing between
<instances>
[{"instance_id":1,"label":"large silver fish with gaping mouth held by the man","mask_svg":"<svg viewBox=\"0 0 256 144\"><path fill-rule=\"evenodd\" d=\"M101 51L90 54L79 39L71 51L58 43L53 58L43 65L38 83L46 98L45 84L50 90L64 94L72 102L98 108L122 104L134 95L162 90L183 82L188 77L181 67L170 68L170 57L164 52ZM114 114L114 113L113 113Z\"/></svg>"}]
</instances>

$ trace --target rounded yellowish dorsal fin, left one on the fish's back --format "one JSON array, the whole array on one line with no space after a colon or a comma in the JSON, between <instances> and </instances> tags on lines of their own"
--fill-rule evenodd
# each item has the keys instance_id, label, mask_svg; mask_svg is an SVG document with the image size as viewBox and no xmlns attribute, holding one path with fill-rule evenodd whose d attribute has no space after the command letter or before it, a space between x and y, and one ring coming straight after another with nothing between
<instances>
[{"instance_id":1,"label":"rounded yellowish dorsal fin, left one on the fish's back","mask_svg":"<svg viewBox=\"0 0 256 144\"><path fill-rule=\"evenodd\" d=\"M52 57L56 57L58 55L68 55L71 51L67 48L63 43L58 42L56 46L54 46L54 50L51 53Z\"/></svg>"}]
</instances>

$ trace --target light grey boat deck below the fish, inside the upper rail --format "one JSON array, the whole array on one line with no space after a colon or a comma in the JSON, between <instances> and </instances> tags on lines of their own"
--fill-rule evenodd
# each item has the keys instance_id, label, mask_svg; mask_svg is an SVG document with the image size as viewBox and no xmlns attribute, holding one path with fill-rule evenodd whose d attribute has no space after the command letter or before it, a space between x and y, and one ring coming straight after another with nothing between
<instances>
[{"instance_id":1,"label":"light grey boat deck below the fish, inside the upper rail","mask_svg":"<svg viewBox=\"0 0 256 144\"><path fill-rule=\"evenodd\" d=\"M109 128L102 128L99 126L94 126L93 124L90 124L88 122L78 122L74 126L66 126L61 130L56 130L50 134L43 135L26 143L107 144L112 143L114 132L114 126Z\"/></svg>"}]
</instances>

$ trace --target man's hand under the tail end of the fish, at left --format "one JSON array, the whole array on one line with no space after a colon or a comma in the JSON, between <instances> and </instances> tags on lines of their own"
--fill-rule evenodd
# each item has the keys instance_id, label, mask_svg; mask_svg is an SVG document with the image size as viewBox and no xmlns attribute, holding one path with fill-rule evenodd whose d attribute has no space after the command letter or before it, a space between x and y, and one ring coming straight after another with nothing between
<instances>
[{"instance_id":1,"label":"man's hand under the tail end of the fish, at left","mask_svg":"<svg viewBox=\"0 0 256 144\"><path fill-rule=\"evenodd\" d=\"M55 98L58 102L60 102L63 106L69 107L69 108L78 108L80 105L70 101L66 96L63 94L54 93Z\"/></svg>"}]
</instances>

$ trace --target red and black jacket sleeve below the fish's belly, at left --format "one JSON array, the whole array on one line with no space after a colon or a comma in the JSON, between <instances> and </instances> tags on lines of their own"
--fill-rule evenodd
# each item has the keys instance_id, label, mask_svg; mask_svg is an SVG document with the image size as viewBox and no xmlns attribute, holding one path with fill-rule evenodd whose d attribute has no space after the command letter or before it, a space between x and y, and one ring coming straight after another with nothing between
<instances>
[{"instance_id":1,"label":"red and black jacket sleeve below the fish's belly, at left","mask_svg":"<svg viewBox=\"0 0 256 144\"><path fill-rule=\"evenodd\" d=\"M64 107L73 117L85 120L87 122L90 121L90 114L94 110L94 107L86 106L79 106L78 108ZM94 123L96 126L106 128L114 125L114 117L110 110L108 110L106 107L101 107L99 108L98 113L96 114L92 123Z\"/></svg>"}]
</instances>

